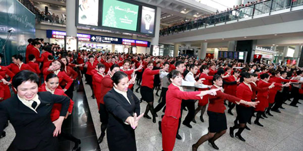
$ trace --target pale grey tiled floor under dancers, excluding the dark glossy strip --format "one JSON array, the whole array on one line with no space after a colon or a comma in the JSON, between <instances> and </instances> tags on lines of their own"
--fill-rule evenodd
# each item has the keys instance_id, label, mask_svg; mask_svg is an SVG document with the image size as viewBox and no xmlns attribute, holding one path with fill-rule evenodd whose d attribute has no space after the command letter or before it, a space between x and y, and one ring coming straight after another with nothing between
<instances>
[{"instance_id":1,"label":"pale grey tiled floor under dancers, excluding the dark glossy strip","mask_svg":"<svg viewBox=\"0 0 303 151\"><path fill-rule=\"evenodd\" d=\"M136 87L136 86L135 86ZM97 136L100 135L100 122L98 121L98 112L96 100L91 97L91 90L88 85L84 86L89 108L93 118L94 127L96 129ZM156 91L155 91L156 92ZM141 95L135 93L140 99ZM160 94L160 92L159 92ZM158 99L154 95L156 106ZM286 103L290 103L287 101ZM196 103L197 105L197 103ZM264 127L260 127L256 124L248 124L250 131L244 130L242 136L246 139L246 142L240 141L238 138L231 138L227 132L221 138L216 141L220 150L303 150L303 105L298 104L298 108L291 107L289 105L283 105L286 109L281 109L282 113L272 112L274 117L268 119L260 119L260 122ZM145 111L146 102L140 104L141 113ZM233 126L233 121L236 117L235 109L232 111L234 116L227 114L227 126ZM149 151L149 150L162 150L162 135L158 130L158 121L161 120L160 115L162 111L158 112L157 123L153 123L151 120L142 118L139 121L137 127L136 140L137 150ZM187 111L183 111L183 119L186 116ZM199 114L198 114L199 115ZM149 116L150 112L149 112ZM197 123L192 123L193 128L188 128L181 124L180 135L182 140L176 140L174 150L176 151L189 151L191 145L195 143L202 135L208 132L208 115L204 115L205 122L201 122L196 116ZM255 117L252 117L252 121ZM107 145L107 139L100 143L101 150L109 150ZM208 143L204 143L199 146L198 150L216 150Z\"/></svg>"}]
</instances>

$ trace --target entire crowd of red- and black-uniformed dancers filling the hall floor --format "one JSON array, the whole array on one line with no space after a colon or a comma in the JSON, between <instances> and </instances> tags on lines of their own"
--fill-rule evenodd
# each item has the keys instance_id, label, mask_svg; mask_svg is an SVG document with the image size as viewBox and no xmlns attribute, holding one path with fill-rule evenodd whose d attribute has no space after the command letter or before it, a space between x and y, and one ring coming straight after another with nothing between
<instances>
[{"instance_id":1,"label":"entire crowd of red- and black-uniformed dancers filling the hall floor","mask_svg":"<svg viewBox=\"0 0 303 151\"><path fill-rule=\"evenodd\" d=\"M13 63L0 66L0 133L1 137L6 136L4 129L10 120L17 133L13 142L16 150L57 150L58 140L53 136L58 135L75 142L73 150L79 149L81 140L62 131L61 125L72 113L74 84L82 76L99 109L102 124L98 142L107 134L110 150L136 150L134 131L141 117L153 123L158 118L163 150L173 150L176 138L182 139L180 124L192 128L190 123L196 123L199 112L200 121L205 122L205 111L209 131L192 144L192 150L205 141L219 149L215 141L227 131L226 108L233 115L235 107L237 114L234 125L229 127L230 136L245 141L241 133L250 130L247 123L251 124L252 117L256 117L255 124L264 126L262 120L273 116L271 111L281 113L282 105L291 98L289 105L298 107L303 94L303 72L299 67L86 50L54 53L56 45L45 43L41 47L38 40L28 40L25 59L16 54L12 56ZM137 93L140 89L139 98L133 93L135 85ZM155 91L157 95L161 91L156 107ZM64 97L46 98L50 95ZM142 101L147 105L140 114ZM162 109L165 113L160 116ZM19 117L25 110L28 114L23 116L28 120ZM182 122L183 110L187 115ZM36 131L27 131L35 128ZM34 140L29 142L29 137Z\"/></svg>"}]
</instances>

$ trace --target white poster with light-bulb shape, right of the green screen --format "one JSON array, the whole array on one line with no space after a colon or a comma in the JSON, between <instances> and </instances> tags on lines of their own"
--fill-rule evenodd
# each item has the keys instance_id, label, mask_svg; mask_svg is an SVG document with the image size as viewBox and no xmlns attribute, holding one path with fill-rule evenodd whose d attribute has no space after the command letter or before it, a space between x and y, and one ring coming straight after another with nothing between
<instances>
[{"instance_id":1,"label":"white poster with light-bulb shape, right of the green screen","mask_svg":"<svg viewBox=\"0 0 303 151\"><path fill-rule=\"evenodd\" d=\"M141 33L154 34L155 9L142 6Z\"/></svg>"}]
</instances>

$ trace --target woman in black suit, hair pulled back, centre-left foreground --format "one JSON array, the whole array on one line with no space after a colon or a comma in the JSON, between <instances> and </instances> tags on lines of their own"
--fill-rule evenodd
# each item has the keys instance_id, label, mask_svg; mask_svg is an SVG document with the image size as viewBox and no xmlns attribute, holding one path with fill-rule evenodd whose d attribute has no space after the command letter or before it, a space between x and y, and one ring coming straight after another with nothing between
<instances>
[{"instance_id":1,"label":"woman in black suit, hair pulled back, centre-left foreground","mask_svg":"<svg viewBox=\"0 0 303 151\"><path fill-rule=\"evenodd\" d=\"M135 128L138 120L143 116L140 115L139 99L128 89L129 81L126 73L117 71L112 80L114 88L104 96L104 103L109 113L107 127L109 149L111 151L137 150Z\"/></svg>"}]
</instances>

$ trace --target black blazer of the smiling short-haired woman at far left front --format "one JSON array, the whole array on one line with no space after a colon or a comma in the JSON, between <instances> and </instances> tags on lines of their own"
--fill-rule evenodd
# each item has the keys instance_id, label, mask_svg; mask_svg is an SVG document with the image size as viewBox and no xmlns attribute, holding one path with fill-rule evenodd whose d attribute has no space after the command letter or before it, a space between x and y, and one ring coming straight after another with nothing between
<instances>
[{"instance_id":1,"label":"black blazer of the smiling short-haired woman at far left front","mask_svg":"<svg viewBox=\"0 0 303 151\"><path fill-rule=\"evenodd\" d=\"M54 103L61 103L60 116L66 116L70 99L53 95L50 92L38 92L41 101L37 113L25 106L17 95L0 102L0 133L8 120L14 126L16 137L13 145L21 150L34 149L41 140L53 137L55 125L51 121Z\"/></svg>"}]
</instances>

